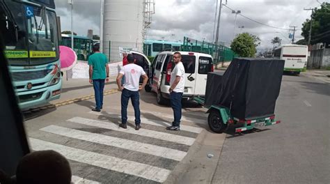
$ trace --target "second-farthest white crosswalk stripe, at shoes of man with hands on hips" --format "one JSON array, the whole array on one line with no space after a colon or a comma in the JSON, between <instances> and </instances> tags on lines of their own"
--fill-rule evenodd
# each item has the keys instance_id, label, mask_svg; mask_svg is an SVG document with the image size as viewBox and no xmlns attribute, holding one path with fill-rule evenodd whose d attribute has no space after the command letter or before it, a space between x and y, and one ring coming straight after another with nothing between
<instances>
[{"instance_id":1,"label":"second-farthest white crosswalk stripe, at shoes of man with hands on hips","mask_svg":"<svg viewBox=\"0 0 330 184\"><path fill-rule=\"evenodd\" d=\"M109 129L109 130L116 130L119 132L125 132L125 133L129 133L129 134L134 134L134 135L141 135L144 137L151 137L154 139L162 139L164 141L172 141L175 143L185 144L188 146L191 146L192 144L194 144L194 141L195 141L195 139L191 138L191 137L172 135L172 134L168 134L168 133L164 133L164 132L146 130L143 128L140 129L139 131L136 131L136 130L134 130L134 128L131 128L129 126L127 126L127 129L123 129L123 128L119 128L118 125L115 125L113 123L97 121L97 120L88 119L88 118L74 117L74 118L70 118L68 121L73 122L73 123L80 123L83 125L90 125L90 126L94 126L97 128L105 128L105 129Z\"/></svg>"}]
</instances>

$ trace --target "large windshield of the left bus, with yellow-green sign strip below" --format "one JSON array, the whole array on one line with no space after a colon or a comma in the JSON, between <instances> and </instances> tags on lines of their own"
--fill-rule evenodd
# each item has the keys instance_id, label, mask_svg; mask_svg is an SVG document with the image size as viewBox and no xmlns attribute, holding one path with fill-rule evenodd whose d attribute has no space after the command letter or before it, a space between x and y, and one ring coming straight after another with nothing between
<instances>
[{"instance_id":1,"label":"large windshield of the left bus, with yellow-green sign strip below","mask_svg":"<svg viewBox=\"0 0 330 184\"><path fill-rule=\"evenodd\" d=\"M56 14L45 6L1 1L0 29L12 66L36 66L58 60Z\"/></svg>"}]
</instances>

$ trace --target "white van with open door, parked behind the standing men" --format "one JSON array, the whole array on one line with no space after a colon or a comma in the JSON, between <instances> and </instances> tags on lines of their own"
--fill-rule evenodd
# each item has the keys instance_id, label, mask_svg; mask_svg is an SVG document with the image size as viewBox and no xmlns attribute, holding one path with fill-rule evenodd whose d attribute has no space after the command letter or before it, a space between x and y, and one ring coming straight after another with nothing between
<instances>
[{"instance_id":1,"label":"white van with open door, parked behind the standing men","mask_svg":"<svg viewBox=\"0 0 330 184\"><path fill-rule=\"evenodd\" d=\"M169 99L171 72L174 52L160 52L155 56L149 72L146 91L157 93L158 104L164 104ZM207 72L213 72L212 56L198 52L180 52L185 70L184 93L182 98L192 100L194 96L204 96Z\"/></svg>"}]
</instances>

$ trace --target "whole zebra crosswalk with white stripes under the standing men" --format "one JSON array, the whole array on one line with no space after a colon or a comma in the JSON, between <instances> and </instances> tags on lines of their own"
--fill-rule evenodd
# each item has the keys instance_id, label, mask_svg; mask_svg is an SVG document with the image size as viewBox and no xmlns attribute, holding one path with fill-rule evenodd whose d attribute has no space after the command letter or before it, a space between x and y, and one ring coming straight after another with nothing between
<instances>
[{"instance_id":1,"label":"whole zebra crosswalk with white stripes under the standing men","mask_svg":"<svg viewBox=\"0 0 330 184\"><path fill-rule=\"evenodd\" d=\"M54 150L70 161L76 184L163 183L203 130L182 125L180 132L172 132L165 130L166 122L143 118L137 131L133 125L123 129L118 122L90 115L29 135L33 151Z\"/></svg>"}]
</instances>

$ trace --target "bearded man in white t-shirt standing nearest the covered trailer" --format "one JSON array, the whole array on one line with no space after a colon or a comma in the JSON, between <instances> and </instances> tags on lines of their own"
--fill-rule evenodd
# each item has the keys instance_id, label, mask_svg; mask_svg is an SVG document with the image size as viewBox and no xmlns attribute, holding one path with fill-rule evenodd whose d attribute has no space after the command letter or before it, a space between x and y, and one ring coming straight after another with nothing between
<instances>
[{"instance_id":1,"label":"bearded man in white t-shirt standing nearest the covered trailer","mask_svg":"<svg viewBox=\"0 0 330 184\"><path fill-rule=\"evenodd\" d=\"M167 127L167 130L180 130L180 120L182 116L182 94L184 92L184 66L181 62L181 54L180 52L174 52L173 61L175 63L175 67L171 72L171 80L170 80L170 99L171 106L174 114L174 121L172 125Z\"/></svg>"}]
</instances>

